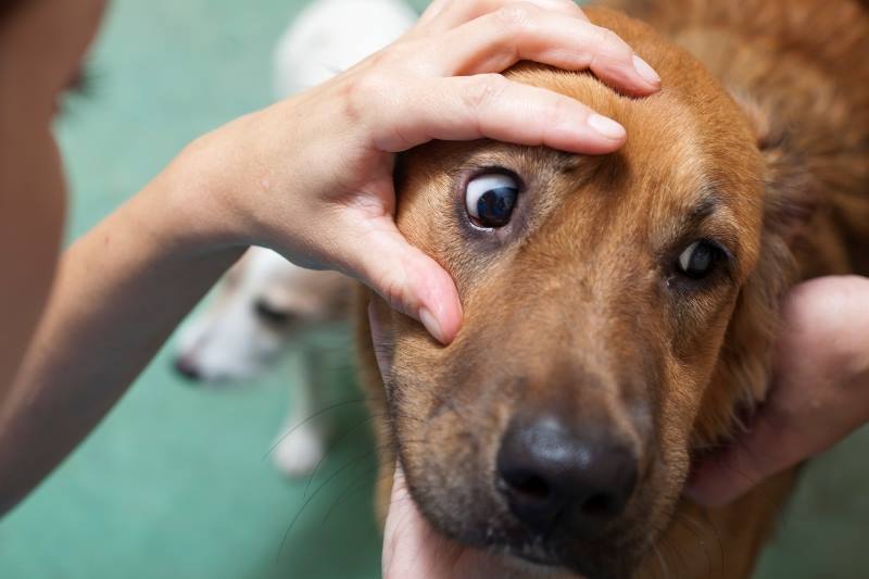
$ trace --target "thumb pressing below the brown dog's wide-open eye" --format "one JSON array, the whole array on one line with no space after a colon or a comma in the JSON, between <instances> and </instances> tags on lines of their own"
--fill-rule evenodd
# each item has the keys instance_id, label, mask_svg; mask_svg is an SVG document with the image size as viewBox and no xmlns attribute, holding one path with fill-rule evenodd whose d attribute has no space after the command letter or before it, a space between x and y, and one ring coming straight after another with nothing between
<instances>
[{"instance_id":1,"label":"thumb pressing below the brown dog's wide-open eye","mask_svg":"<svg viewBox=\"0 0 869 579\"><path fill-rule=\"evenodd\" d=\"M389 304L423 323L441 343L450 343L462 326L458 292L443 267L407 243L391 219L385 219L348 260L351 274Z\"/></svg>"}]
</instances>

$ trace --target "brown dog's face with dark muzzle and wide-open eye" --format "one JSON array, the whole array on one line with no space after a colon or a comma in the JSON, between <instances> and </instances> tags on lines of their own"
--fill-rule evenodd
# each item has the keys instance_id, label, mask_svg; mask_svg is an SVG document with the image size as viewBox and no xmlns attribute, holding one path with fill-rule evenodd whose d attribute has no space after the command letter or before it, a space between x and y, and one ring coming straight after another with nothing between
<instances>
[{"instance_id":1,"label":"brown dog's face with dark muzzle and wide-open eye","mask_svg":"<svg viewBox=\"0 0 869 579\"><path fill-rule=\"evenodd\" d=\"M442 348L371 310L392 433L427 518L463 543L592 577L639 563L698 430L727 423L742 395L719 378L764 224L743 112L688 54L609 17L662 73L660 93L513 76L618 119L626 147L413 151L399 226L453 275L464 326Z\"/></svg>"}]
</instances>

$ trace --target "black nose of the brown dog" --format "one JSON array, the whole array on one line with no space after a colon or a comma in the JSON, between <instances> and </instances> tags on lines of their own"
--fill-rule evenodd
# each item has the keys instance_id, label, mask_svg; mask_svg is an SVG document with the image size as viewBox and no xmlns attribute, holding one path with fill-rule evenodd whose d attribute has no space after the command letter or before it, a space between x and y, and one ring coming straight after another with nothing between
<instances>
[{"instance_id":1,"label":"black nose of the brown dog","mask_svg":"<svg viewBox=\"0 0 869 579\"><path fill-rule=\"evenodd\" d=\"M624 509L637 483L637 458L604 427L536 415L512 420L498 453L499 490L511 511L544 534L558 526L592 538Z\"/></svg>"}]
</instances>

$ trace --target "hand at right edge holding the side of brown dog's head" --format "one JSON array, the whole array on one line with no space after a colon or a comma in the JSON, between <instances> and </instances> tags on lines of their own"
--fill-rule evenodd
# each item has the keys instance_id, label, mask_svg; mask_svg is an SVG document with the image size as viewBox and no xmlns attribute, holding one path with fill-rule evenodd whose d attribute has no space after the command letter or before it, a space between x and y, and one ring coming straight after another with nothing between
<instances>
[{"instance_id":1,"label":"hand at right edge holding the side of brown dog's head","mask_svg":"<svg viewBox=\"0 0 869 579\"><path fill-rule=\"evenodd\" d=\"M687 494L727 504L869 420L869 278L822 277L782 303L773 382L750 430L705 460Z\"/></svg>"}]
</instances>

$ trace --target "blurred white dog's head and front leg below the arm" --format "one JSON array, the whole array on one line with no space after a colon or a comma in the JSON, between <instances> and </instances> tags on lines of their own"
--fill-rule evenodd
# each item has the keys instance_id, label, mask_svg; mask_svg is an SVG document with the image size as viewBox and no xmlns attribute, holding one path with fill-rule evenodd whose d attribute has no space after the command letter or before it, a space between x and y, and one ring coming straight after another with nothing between
<instances>
[{"instance_id":1,"label":"blurred white dog's head and front leg below the arm","mask_svg":"<svg viewBox=\"0 0 869 579\"><path fill-rule=\"evenodd\" d=\"M275 465L302 476L323 457L327 417L311 418L323 403L316 347L302 339L312 326L347 317L352 284L332 272L297 267L277 253L251 248L224 276L207 307L181 330L175 367L192 380L251 378L279 354L293 351L290 414L273 450ZM290 432L290 429L293 429Z\"/></svg>"}]
</instances>

